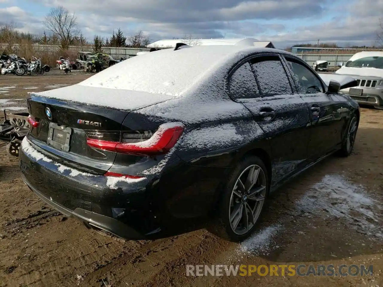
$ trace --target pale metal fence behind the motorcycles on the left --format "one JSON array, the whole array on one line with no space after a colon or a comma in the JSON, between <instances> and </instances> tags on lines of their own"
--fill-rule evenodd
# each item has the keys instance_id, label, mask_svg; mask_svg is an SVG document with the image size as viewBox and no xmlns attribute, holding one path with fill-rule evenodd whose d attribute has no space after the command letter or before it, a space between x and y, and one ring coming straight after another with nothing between
<instances>
[{"instance_id":1,"label":"pale metal fence behind the motorcycles on the left","mask_svg":"<svg viewBox=\"0 0 383 287\"><path fill-rule=\"evenodd\" d=\"M33 51L37 53L43 54L53 54L61 50L61 46L59 45L40 45L40 44L32 44L31 45ZM3 50L7 47L7 44L0 44L0 49ZM13 47L17 50L17 48L21 48L22 45L15 44ZM69 46L68 49L70 52L77 53L79 51L92 52L92 46ZM105 54L109 54L115 59L119 58L129 58L137 55L137 52L147 52L149 48L122 48L122 47L102 47L102 52Z\"/></svg>"}]
</instances>

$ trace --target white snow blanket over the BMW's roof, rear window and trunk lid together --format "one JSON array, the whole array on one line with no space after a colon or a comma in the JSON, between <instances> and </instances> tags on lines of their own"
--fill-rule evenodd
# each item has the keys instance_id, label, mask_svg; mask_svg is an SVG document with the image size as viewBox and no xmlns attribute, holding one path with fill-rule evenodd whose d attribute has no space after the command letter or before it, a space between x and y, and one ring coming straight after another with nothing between
<instances>
[{"instance_id":1,"label":"white snow blanket over the BMW's roof, rear window and trunk lid together","mask_svg":"<svg viewBox=\"0 0 383 287\"><path fill-rule=\"evenodd\" d=\"M229 69L237 61L257 52L291 53L249 46L196 46L163 49L133 57L64 88L43 91L48 98L134 109L142 104L194 94L199 87L224 87ZM92 96L89 96L92 95ZM108 95L107 97L105 95ZM148 101L145 101L148 99Z\"/></svg>"}]
</instances>

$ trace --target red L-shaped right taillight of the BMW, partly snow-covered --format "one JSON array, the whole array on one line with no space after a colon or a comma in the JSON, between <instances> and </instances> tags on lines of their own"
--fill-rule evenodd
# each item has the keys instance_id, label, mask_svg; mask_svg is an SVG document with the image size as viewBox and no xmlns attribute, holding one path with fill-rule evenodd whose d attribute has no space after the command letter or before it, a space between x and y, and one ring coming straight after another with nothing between
<instances>
[{"instance_id":1,"label":"red L-shaped right taillight of the BMW, partly snow-covered","mask_svg":"<svg viewBox=\"0 0 383 287\"><path fill-rule=\"evenodd\" d=\"M160 155L169 152L182 135L182 132L182 123L169 123L161 125L154 133L151 131L123 132L120 142L88 138L87 144L90 147L110 152Z\"/></svg>"}]
</instances>

